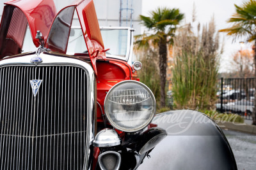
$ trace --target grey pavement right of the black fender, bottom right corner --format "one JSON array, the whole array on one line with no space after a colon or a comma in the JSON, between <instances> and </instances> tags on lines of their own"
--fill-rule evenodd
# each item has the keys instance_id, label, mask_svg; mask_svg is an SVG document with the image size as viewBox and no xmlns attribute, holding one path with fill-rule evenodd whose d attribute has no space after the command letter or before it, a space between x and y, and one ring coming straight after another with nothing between
<instances>
[{"instance_id":1,"label":"grey pavement right of the black fender, bottom right corner","mask_svg":"<svg viewBox=\"0 0 256 170\"><path fill-rule=\"evenodd\" d=\"M256 136L223 130L234 152L238 169L256 169Z\"/></svg>"}]
</instances>

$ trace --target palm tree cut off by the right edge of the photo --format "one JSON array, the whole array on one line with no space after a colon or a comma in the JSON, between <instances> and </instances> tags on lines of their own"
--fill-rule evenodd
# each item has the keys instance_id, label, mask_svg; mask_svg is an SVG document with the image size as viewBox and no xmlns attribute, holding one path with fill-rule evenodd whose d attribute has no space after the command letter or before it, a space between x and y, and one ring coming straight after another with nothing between
<instances>
[{"instance_id":1,"label":"palm tree cut off by the right edge of the photo","mask_svg":"<svg viewBox=\"0 0 256 170\"><path fill-rule=\"evenodd\" d=\"M233 24L232 27L221 29L220 32L227 32L227 35L233 36L234 39L246 38L246 41L254 41L254 44L256 45L256 1L250 0L244 2L241 6L235 4L235 7L236 13L227 20L228 23ZM256 50L254 53L254 63L256 63ZM256 92L254 106L256 106ZM253 108L252 118L253 125L256 125L256 107Z\"/></svg>"}]
</instances>

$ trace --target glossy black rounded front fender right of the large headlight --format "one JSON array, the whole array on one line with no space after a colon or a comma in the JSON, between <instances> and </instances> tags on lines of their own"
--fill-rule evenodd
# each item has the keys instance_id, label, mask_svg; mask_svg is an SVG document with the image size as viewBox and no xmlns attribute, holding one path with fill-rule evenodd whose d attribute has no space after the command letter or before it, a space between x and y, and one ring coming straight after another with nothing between
<instances>
[{"instance_id":1,"label":"glossy black rounded front fender right of the large headlight","mask_svg":"<svg viewBox=\"0 0 256 170\"><path fill-rule=\"evenodd\" d=\"M220 127L198 111L168 111L153 124L167 132L138 169L237 169Z\"/></svg>"}]
</instances>

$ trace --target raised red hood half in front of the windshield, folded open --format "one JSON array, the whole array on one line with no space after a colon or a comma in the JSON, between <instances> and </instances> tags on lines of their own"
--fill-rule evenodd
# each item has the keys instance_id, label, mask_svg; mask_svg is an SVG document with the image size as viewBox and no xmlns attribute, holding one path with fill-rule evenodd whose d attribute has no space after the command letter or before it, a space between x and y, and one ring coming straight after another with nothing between
<instances>
[{"instance_id":1,"label":"raised red hood half in front of the windshield, folded open","mask_svg":"<svg viewBox=\"0 0 256 170\"><path fill-rule=\"evenodd\" d=\"M54 18L54 22L52 22L45 46L53 51L67 52L68 37L75 10L83 31L84 41L93 69L97 75L96 59L97 57L106 59L106 53L92 0L74 1L74 3L63 8Z\"/></svg>"}]
</instances>

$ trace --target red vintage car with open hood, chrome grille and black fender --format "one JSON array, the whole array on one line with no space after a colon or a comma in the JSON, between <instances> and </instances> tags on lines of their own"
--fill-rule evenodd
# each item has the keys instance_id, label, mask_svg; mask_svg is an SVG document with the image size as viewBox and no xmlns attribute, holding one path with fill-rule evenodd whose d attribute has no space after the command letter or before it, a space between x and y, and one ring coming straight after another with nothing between
<instances>
[{"instance_id":1,"label":"red vintage car with open hood, chrome grille and black fender","mask_svg":"<svg viewBox=\"0 0 256 170\"><path fill-rule=\"evenodd\" d=\"M141 63L132 64L133 29L100 29L92 0L58 14L52 0L5 4L1 169L237 169L204 114L155 115L154 95L136 74Z\"/></svg>"}]
</instances>

